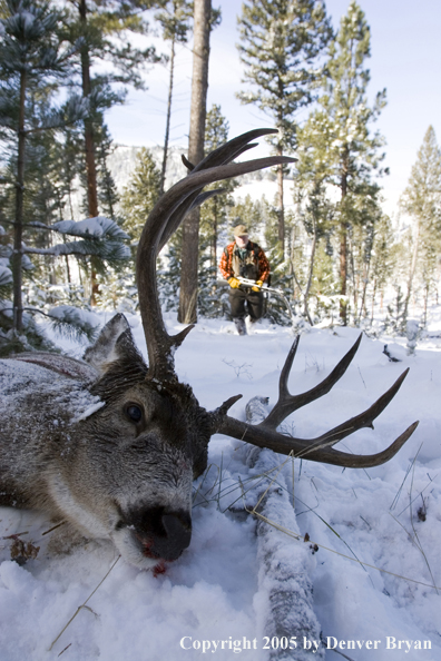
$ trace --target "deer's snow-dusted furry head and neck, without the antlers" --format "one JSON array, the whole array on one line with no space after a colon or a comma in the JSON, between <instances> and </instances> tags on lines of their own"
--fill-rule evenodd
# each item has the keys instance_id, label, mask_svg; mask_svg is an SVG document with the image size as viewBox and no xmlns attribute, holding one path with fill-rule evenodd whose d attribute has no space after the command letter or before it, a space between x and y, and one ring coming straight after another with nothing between
<instances>
[{"instance_id":1,"label":"deer's snow-dusted furry head and neck, without the antlers","mask_svg":"<svg viewBox=\"0 0 441 661\"><path fill-rule=\"evenodd\" d=\"M146 381L122 315L85 361L38 353L0 361L0 505L42 510L87 537L110 539L139 568L175 560L190 540L207 413L188 386ZM129 404L144 410L137 424Z\"/></svg>"}]
</instances>

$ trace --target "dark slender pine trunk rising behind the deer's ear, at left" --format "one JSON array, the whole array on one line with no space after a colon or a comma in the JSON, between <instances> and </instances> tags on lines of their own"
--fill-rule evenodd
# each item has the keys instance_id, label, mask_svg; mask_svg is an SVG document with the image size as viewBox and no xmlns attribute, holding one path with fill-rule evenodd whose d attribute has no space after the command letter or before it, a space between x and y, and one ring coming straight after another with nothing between
<instances>
[{"instance_id":1,"label":"dark slender pine trunk rising behind the deer's ear, at left","mask_svg":"<svg viewBox=\"0 0 441 661\"><path fill-rule=\"evenodd\" d=\"M80 22L82 32L86 34L87 26L87 6L86 0L80 0L79 3ZM81 83L82 83L82 96L86 98L90 96L91 83L90 83L90 58L87 40L81 47ZM94 136L94 122L90 115L85 119L85 152L86 152L86 175L87 175L87 203L89 217L95 218L98 216L98 193L97 193L97 167L95 161L95 136ZM91 296L90 304L95 305L97 302L97 294L99 293L99 286L97 283L97 270L95 258L90 258L91 263Z\"/></svg>"}]
</instances>

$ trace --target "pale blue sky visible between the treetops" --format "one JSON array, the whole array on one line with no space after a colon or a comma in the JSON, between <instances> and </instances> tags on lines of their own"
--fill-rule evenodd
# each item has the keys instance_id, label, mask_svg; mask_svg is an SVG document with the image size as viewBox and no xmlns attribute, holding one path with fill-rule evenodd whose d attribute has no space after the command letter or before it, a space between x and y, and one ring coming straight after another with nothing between
<instances>
[{"instance_id":1,"label":"pale blue sky visible between the treetops","mask_svg":"<svg viewBox=\"0 0 441 661\"><path fill-rule=\"evenodd\" d=\"M271 120L256 107L242 106L235 98L242 77L235 47L238 41L236 14L242 3L214 0L213 4L220 6L223 21L212 34L208 107L220 105L229 121L231 137L258 126L271 126ZM381 184L386 198L385 209L393 213L429 125L433 126L441 142L441 2L364 0L360 6L372 34L371 58L367 60L370 93L373 98L383 88L388 91L388 106L375 128L386 139L386 165L391 175ZM335 28L347 7L349 0L327 0L327 13ZM158 49L163 48L159 40L155 42ZM187 144L189 119L190 46L179 49L171 119L171 142L183 147ZM147 91L130 92L128 103L107 116L114 139L119 144L148 146L163 142L168 71L164 67L153 67L146 73L146 83Z\"/></svg>"}]
</instances>

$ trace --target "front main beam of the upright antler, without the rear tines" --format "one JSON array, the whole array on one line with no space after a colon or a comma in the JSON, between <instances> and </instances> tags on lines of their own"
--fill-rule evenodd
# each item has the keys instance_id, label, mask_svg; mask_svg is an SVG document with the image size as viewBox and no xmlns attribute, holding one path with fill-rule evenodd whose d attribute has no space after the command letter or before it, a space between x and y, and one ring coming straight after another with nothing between
<instances>
[{"instance_id":1,"label":"front main beam of the upright antler, without the rear tines","mask_svg":"<svg viewBox=\"0 0 441 661\"><path fill-rule=\"evenodd\" d=\"M149 378L160 377L169 379L175 377L174 349L182 344L193 327L188 326L182 333L169 336L164 325L158 299L156 256L158 254L160 238L171 215L179 206L185 206L184 214L179 213L179 220L182 220L188 210L188 206L185 204L187 198L195 191L199 191L207 184L280 164L290 164L294 160L293 158L283 156L272 156L238 164L220 165L202 171L192 171L188 177L175 184L151 210L144 227L137 254L139 308L147 342ZM190 201L190 205L193 201Z\"/></svg>"}]
</instances>

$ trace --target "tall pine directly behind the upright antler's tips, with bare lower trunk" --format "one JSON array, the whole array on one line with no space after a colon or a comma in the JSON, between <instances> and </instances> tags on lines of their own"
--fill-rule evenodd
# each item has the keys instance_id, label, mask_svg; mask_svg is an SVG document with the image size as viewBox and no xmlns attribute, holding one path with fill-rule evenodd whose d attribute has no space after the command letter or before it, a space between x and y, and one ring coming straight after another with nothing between
<instances>
[{"instance_id":1,"label":"tall pine directly behind the upright antler's tips, with bare lower trunk","mask_svg":"<svg viewBox=\"0 0 441 661\"><path fill-rule=\"evenodd\" d=\"M237 96L243 103L256 103L278 129L271 139L276 154L296 147L295 114L314 99L318 76L317 58L332 37L330 20L321 0L248 0L238 19L244 82L253 91ZM285 218L283 166L277 168L278 241L284 257Z\"/></svg>"}]
</instances>

